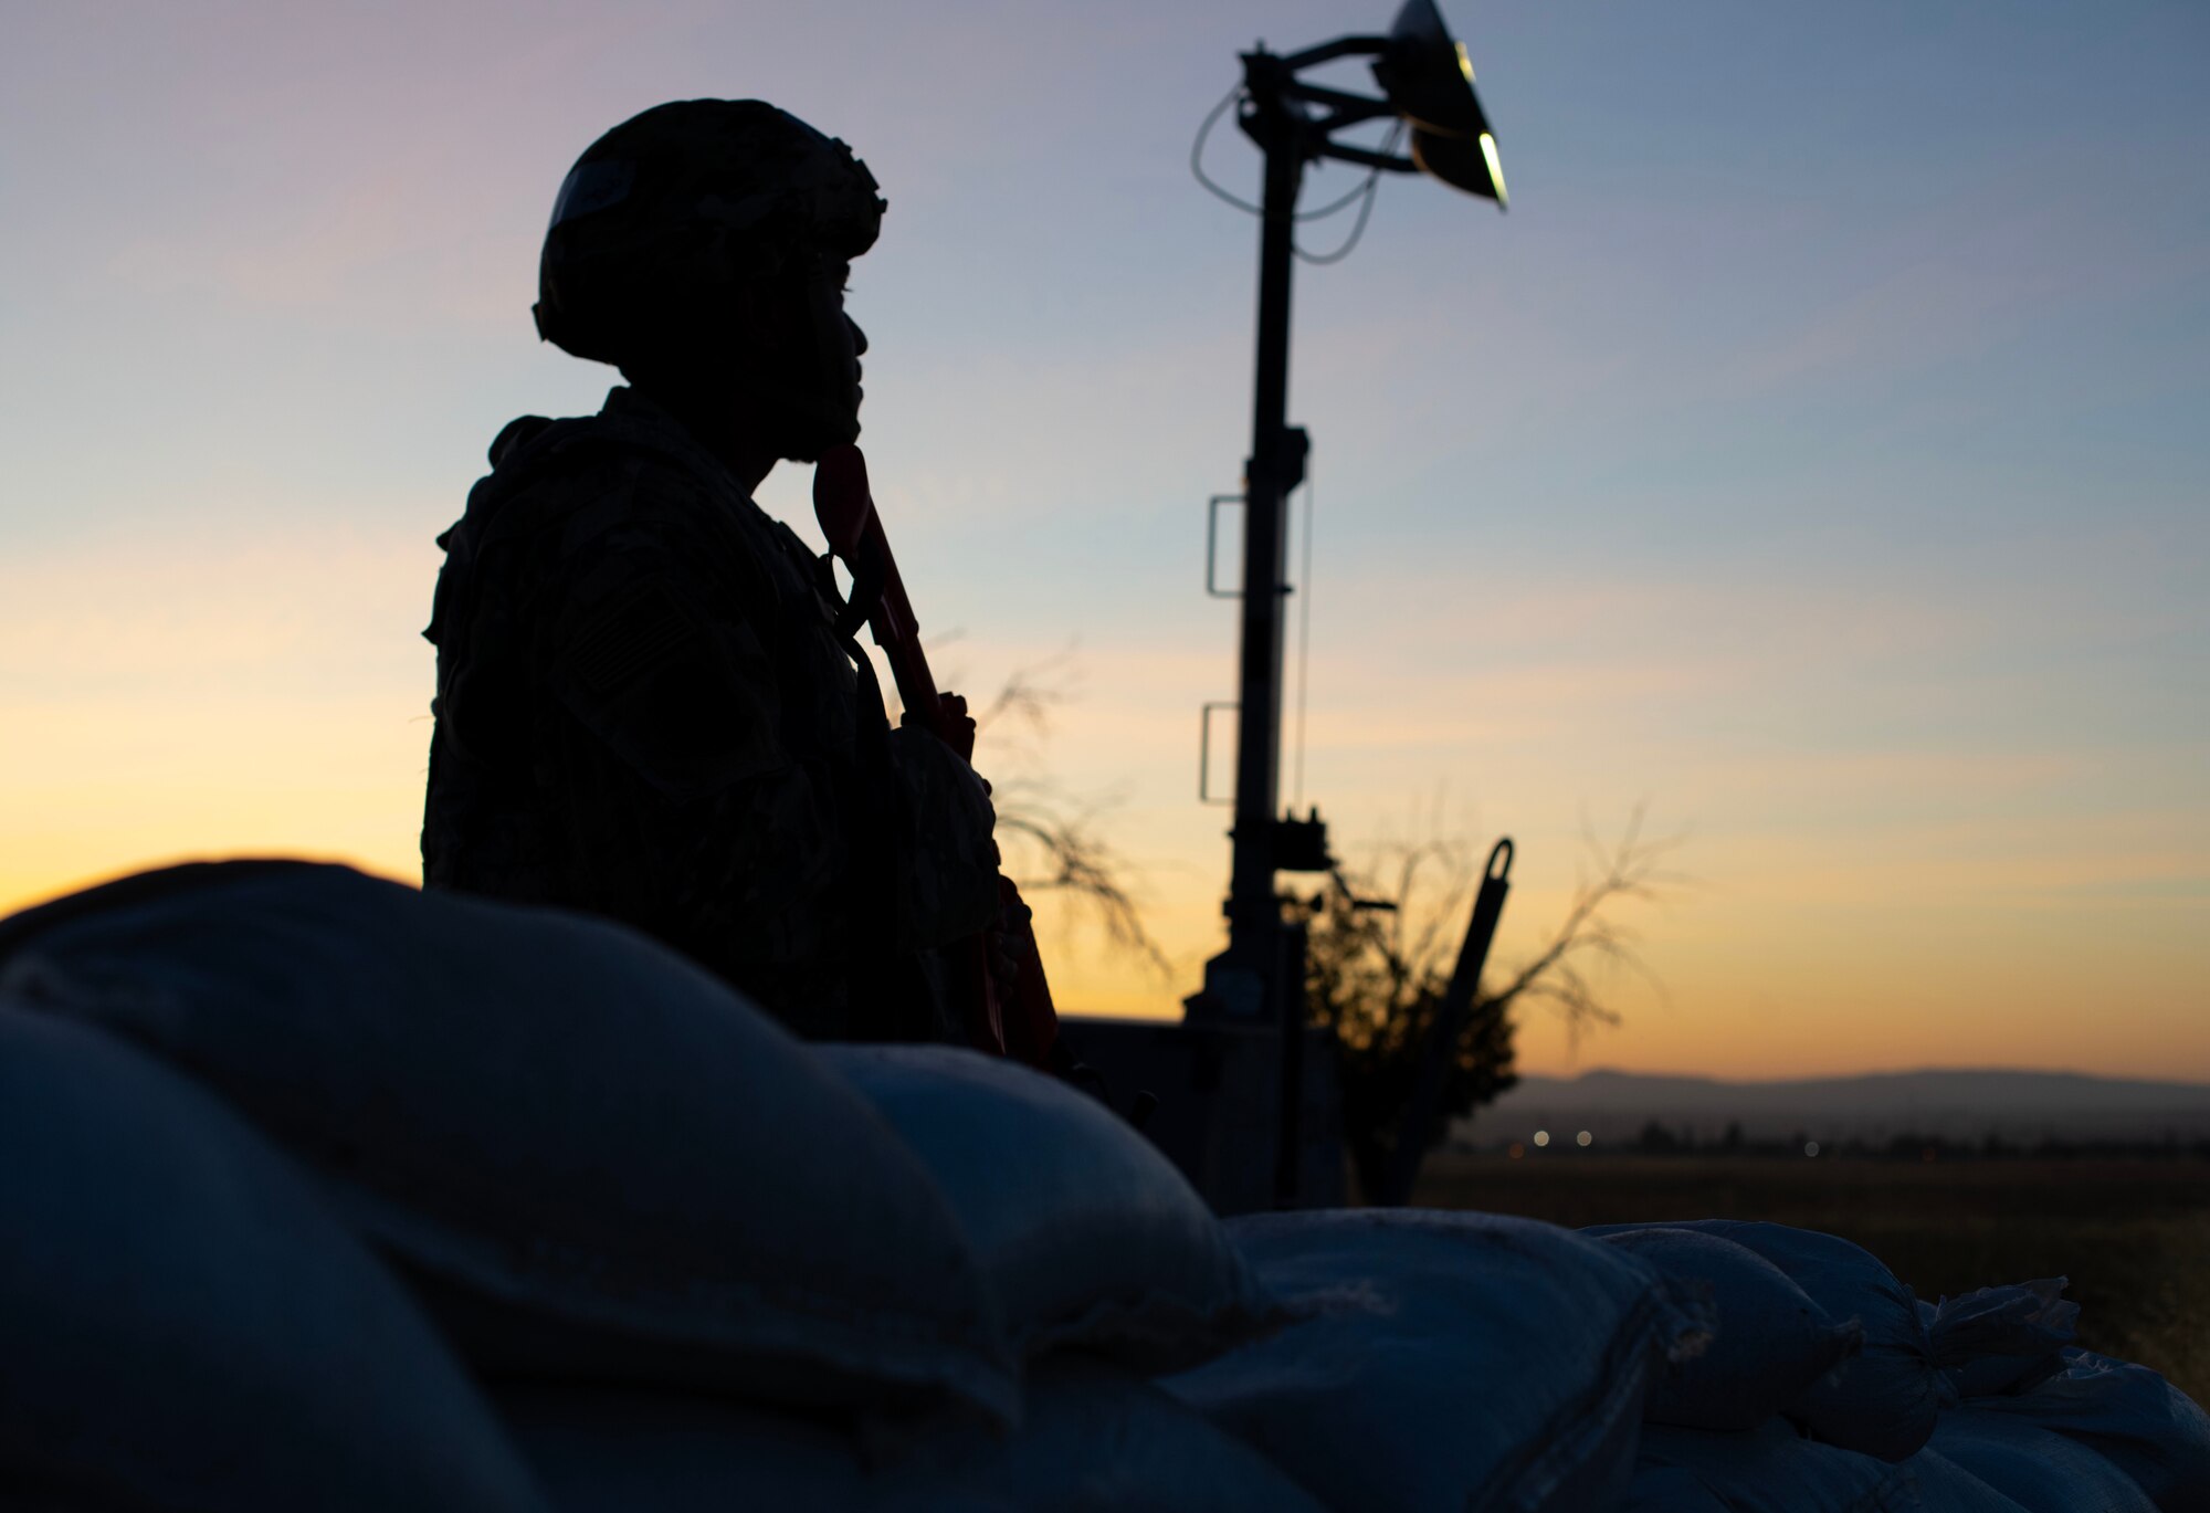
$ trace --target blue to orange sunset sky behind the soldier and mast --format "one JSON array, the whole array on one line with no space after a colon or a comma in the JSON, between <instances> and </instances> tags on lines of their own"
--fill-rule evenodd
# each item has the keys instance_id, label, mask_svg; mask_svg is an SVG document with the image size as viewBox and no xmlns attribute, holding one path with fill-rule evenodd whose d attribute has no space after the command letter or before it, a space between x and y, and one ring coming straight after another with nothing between
<instances>
[{"instance_id":1,"label":"blue to orange sunset sky behind the soldier and mast","mask_svg":"<svg viewBox=\"0 0 2210 1513\"><path fill-rule=\"evenodd\" d=\"M504 420L614 380L530 327L552 192L643 106L756 95L891 201L864 440L939 672L1063 655L1050 739L979 765L1103 803L1178 964L1070 927L1061 1004L1176 1013L1257 248L1191 137L1238 51L1392 9L18 0L0 909L181 856L420 876L433 538ZM1390 179L1297 270L1337 847L1512 834L1512 964L1585 829L1682 836L1695 885L1620 916L1664 993L1527 1018L1529 1071L2210 1082L2210 11L1443 11L1512 212ZM1231 126L1207 166L1255 192ZM802 469L760 502L813 535Z\"/></svg>"}]
</instances>

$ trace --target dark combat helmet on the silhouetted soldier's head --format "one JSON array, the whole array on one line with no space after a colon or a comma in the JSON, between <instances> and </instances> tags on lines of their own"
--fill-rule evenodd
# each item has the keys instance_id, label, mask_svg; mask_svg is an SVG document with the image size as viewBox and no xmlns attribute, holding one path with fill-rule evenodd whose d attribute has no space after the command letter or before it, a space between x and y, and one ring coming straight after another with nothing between
<instances>
[{"instance_id":1,"label":"dark combat helmet on the silhouetted soldier's head","mask_svg":"<svg viewBox=\"0 0 2210 1513\"><path fill-rule=\"evenodd\" d=\"M875 246L875 175L765 100L674 100L592 142L552 201L537 334L594 363L712 330L732 290Z\"/></svg>"}]
</instances>

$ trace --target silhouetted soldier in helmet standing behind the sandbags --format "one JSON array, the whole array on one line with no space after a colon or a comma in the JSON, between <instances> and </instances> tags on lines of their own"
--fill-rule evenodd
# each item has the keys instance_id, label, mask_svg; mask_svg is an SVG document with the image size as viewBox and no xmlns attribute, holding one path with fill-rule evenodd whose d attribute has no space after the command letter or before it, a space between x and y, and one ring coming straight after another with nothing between
<instances>
[{"instance_id":1,"label":"silhouetted soldier in helmet standing behind the sandbags","mask_svg":"<svg viewBox=\"0 0 2210 1513\"><path fill-rule=\"evenodd\" d=\"M537 330L630 387L511 422L440 538L422 867L625 920L804 1035L959 1037L935 947L997 918L986 787L888 730L827 560L751 502L860 434L844 276L884 208L756 100L577 161Z\"/></svg>"}]
</instances>

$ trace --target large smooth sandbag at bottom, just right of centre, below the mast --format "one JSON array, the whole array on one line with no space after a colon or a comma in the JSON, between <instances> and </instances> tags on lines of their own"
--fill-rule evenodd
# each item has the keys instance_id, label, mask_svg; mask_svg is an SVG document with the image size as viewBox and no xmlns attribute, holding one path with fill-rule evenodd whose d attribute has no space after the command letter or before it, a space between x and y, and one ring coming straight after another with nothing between
<instances>
[{"instance_id":1,"label":"large smooth sandbag at bottom, just right of centre, below the mast","mask_svg":"<svg viewBox=\"0 0 2210 1513\"><path fill-rule=\"evenodd\" d=\"M1611 1513L1655 1376L1711 1323L1635 1256L1532 1219L1260 1214L1229 1232L1306 1316L1160 1385L1346 1513Z\"/></svg>"}]
</instances>

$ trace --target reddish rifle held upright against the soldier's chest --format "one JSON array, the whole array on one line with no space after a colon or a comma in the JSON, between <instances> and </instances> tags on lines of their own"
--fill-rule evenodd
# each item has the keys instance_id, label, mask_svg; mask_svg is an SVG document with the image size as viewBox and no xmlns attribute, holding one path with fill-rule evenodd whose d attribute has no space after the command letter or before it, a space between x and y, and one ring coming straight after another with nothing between
<instances>
[{"instance_id":1,"label":"reddish rifle held upright against the soldier's chest","mask_svg":"<svg viewBox=\"0 0 2210 1513\"><path fill-rule=\"evenodd\" d=\"M857 447L835 447L813 469L813 518L820 522L822 535L829 538L829 551L851 571L851 602L844 611L851 626L846 630L857 628L857 615L866 617L875 646L891 661L891 677L897 679L897 697L908 717L964 761L972 761L975 721L955 717L937 692L937 679L922 650L919 622L913 617L906 582L897 573L897 557L891 555L891 542L882 533L882 515L875 513L875 495L866 484L866 458L860 456ZM1017 975L1008 1002L990 971L988 940L970 936L955 942L953 958L961 967L972 1004L968 1040L979 1051L1052 1068L1059 1011L1052 1006L1052 989L1043 978L1043 958L1036 953L1036 931L1028 922L1028 905L1021 902L1021 889L1003 872L997 874L997 900L1003 920L1001 938Z\"/></svg>"}]
</instances>

